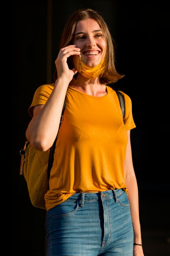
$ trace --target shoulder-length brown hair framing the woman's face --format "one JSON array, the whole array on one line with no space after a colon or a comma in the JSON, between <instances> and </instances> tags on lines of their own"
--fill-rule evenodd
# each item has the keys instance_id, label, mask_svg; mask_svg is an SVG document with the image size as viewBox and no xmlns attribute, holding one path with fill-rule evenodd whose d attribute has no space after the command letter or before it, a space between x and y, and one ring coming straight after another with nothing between
<instances>
[{"instance_id":1,"label":"shoulder-length brown hair framing the woman's face","mask_svg":"<svg viewBox=\"0 0 170 256\"><path fill-rule=\"evenodd\" d=\"M99 82L104 84L115 83L116 81L121 79L124 75L121 75L116 71L115 50L114 50L115 42L110 34L110 31L108 29L106 22L97 11L94 11L89 8L78 9L68 18L62 33L60 49L72 43L75 26L77 25L77 22L79 22L80 20L86 20L88 18L95 20L99 24L99 27L102 29L103 36L106 40L106 56L105 56L106 66L105 66L104 72L99 76ZM68 60L68 65L69 65L69 60ZM75 74L74 77L77 77L77 74ZM57 79L57 70L55 70L55 73L54 73L54 82L56 79Z\"/></svg>"}]
</instances>

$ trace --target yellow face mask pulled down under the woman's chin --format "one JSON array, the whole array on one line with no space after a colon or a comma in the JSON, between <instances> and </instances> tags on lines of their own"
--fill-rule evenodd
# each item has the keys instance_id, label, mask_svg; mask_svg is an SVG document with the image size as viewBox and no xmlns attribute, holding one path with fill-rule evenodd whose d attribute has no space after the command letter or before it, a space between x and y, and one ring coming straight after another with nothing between
<instances>
[{"instance_id":1,"label":"yellow face mask pulled down under the woman's chin","mask_svg":"<svg viewBox=\"0 0 170 256\"><path fill-rule=\"evenodd\" d=\"M88 77L90 79L95 79L97 76L102 74L105 67L105 59L99 63L96 67L88 67L81 61L81 73L82 76Z\"/></svg>"}]
</instances>

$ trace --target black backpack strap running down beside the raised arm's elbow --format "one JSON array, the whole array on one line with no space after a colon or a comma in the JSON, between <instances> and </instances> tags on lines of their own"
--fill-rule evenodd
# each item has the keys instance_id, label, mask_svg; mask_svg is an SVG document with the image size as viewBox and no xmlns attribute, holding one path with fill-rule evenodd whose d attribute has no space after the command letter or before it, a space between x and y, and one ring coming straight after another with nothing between
<instances>
[{"instance_id":1,"label":"black backpack strap running down beside the raised arm's elbow","mask_svg":"<svg viewBox=\"0 0 170 256\"><path fill-rule=\"evenodd\" d=\"M64 115L65 106L66 106L66 97L64 99L64 104L63 104L63 107L62 107L62 115L61 115L58 131L59 131L61 123L63 121L63 115ZM58 136L58 132L57 132L57 136ZM55 141L53 142L53 145L50 148L50 153L49 153L49 163L48 163L48 170L47 170L47 173L48 173L48 185L49 185L50 171L51 171L51 168L53 166L54 150L55 150L55 144L56 144L56 141L57 141L57 136L55 138Z\"/></svg>"}]
</instances>

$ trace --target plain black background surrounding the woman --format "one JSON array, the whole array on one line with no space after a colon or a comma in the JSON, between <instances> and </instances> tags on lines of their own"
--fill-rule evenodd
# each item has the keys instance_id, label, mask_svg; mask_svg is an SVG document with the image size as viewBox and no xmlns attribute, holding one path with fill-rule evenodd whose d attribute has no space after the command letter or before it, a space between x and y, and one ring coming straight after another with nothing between
<instances>
[{"instance_id":1,"label":"plain black background surrounding the woman","mask_svg":"<svg viewBox=\"0 0 170 256\"><path fill-rule=\"evenodd\" d=\"M137 128L131 131L133 164L145 256L170 256L169 34L168 1L12 1L11 254L45 256L45 210L31 205L19 175L20 149L30 121L28 108L38 86L51 83L60 36L80 7L99 11L116 42L115 84L132 99ZM8 251L8 248L7 248Z\"/></svg>"}]
</instances>

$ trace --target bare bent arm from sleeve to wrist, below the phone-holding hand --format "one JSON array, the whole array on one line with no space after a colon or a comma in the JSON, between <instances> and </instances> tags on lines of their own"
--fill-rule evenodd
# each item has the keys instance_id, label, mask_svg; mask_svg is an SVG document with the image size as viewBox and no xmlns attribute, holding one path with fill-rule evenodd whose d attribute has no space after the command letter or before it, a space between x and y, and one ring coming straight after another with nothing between
<instances>
[{"instance_id":1,"label":"bare bent arm from sleeve to wrist, below the phone-holding hand","mask_svg":"<svg viewBox=\"0 0 170 256\"><path fill-rule=\"evenodd\" d=\"M47 150L55 140L68 84L67 80L58 79L46 104L39 106L37 112L35 107L33 118L26 130L26 138L37 150Z\"/></svg>"}]
</instances>

